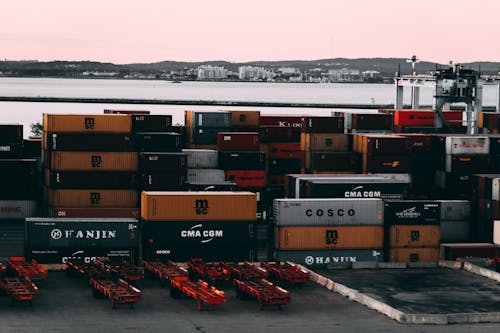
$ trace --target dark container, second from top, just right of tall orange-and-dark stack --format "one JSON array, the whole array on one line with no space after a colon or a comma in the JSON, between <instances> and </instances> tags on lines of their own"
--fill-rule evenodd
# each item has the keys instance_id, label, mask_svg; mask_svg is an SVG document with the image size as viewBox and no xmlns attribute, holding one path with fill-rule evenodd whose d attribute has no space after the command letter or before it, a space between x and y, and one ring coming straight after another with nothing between
<instances>
[{"instance_id":1,"label":"dark container, second from top, just right of tall orange-and-dark stack","mask_svg":"<svg viewBox=\"0 0 500 333\"><path fill-rule=\"evenodd\" d=\"M181 135L174 132L140 132L136 134L136 147L147 152L180 152Z\"/></svg>"}]
</instances>

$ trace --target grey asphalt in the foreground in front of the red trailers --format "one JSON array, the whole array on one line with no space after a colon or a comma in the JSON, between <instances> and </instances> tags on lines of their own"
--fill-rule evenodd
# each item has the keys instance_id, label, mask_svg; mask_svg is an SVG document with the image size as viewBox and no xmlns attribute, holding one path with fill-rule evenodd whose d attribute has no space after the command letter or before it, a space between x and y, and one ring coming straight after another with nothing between
<instances>
[{"instance_id":1,"label":"grey asphalt in the foreground in front of the red trailers","mask_svg":"<svg viewBox=\"0 0 500 333\"><path fill-rule=\"evenodd\" d=\"M344 278L352 270L343 272ZM337 275L337 273L336 273ZM356 279L353 279L356 280ZM142 300L134 309L113 310L107 299L95 299L84 280L51 272L39 284L33 306L11 305L0 297L3 332L493 332L500 324L403 325L318 285L290 289L292 302L282 310L261 311L257 301L236 299L224 287L227 302L214 311L198 311L194 300L173 299L160 282L140 283Z\"/></svg>"}]
</instances>

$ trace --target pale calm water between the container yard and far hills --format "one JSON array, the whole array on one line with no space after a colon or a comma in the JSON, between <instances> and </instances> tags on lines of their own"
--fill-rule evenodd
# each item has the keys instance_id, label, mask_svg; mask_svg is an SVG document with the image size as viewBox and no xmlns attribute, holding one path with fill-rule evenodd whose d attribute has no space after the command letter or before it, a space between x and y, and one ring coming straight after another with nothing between
<instances>
[{"instance_id":1,"label":"pale calm water between the container yard and far hills","mask_svg":"<svg viewBox=\"0 0 500 333\"><path fill-rule=\"evenodd\" d=\"M392 104L392 84L306 84L250 82L182 82L144 80L81 80L46 78L0 78L1 96L138 98L172 100L221 100L245 102ZM410 102L405 92L405 103ZM496 91L484 88L484 105L494 105ZM421 104L432 104L432 90L421 90ZM80 103L0 102L0 123L24 125L25 136L30 124L41 122L43 113L102 113L103 109L149 110L153 114L171 114L174 123L184 122L184 110L220 110L221 106L189 105L119 105ZM263 114L330 115L333 109L251 108ZM338 110L336 110L338 111Z\"/></svg>"}]
</instances>

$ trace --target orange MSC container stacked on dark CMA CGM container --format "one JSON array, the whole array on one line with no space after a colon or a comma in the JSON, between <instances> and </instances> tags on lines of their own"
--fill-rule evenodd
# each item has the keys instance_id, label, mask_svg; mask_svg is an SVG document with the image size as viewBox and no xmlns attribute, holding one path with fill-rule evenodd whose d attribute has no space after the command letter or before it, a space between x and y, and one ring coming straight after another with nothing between
<instances>
[{"instance_id":1,"label":"orange MSC container stacked on dark CMA CGM container","mask_svg":"<svg viewBox=\"0 0 500 333\"><path fill-rule=\"evenodd\" d=\"M141 217L145 259L255 258L255 193L145 191Z\"/></svg>"}]
</instances>

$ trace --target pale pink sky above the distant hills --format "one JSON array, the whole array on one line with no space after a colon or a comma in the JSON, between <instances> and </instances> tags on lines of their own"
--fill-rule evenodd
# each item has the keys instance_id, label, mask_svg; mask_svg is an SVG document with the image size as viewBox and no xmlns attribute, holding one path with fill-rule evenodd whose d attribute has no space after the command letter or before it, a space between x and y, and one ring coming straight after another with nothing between
<instances>
[{"instance_id":1,"label":"pale pink sky above the distant hills","mask_svg":"<svg viewBox=\"0 0 500 333\"><path fill-rule=\"evenodd\" d=\"M499 0L2 0L0 59L500 61Z\"/></svg>"}]
</instances>

